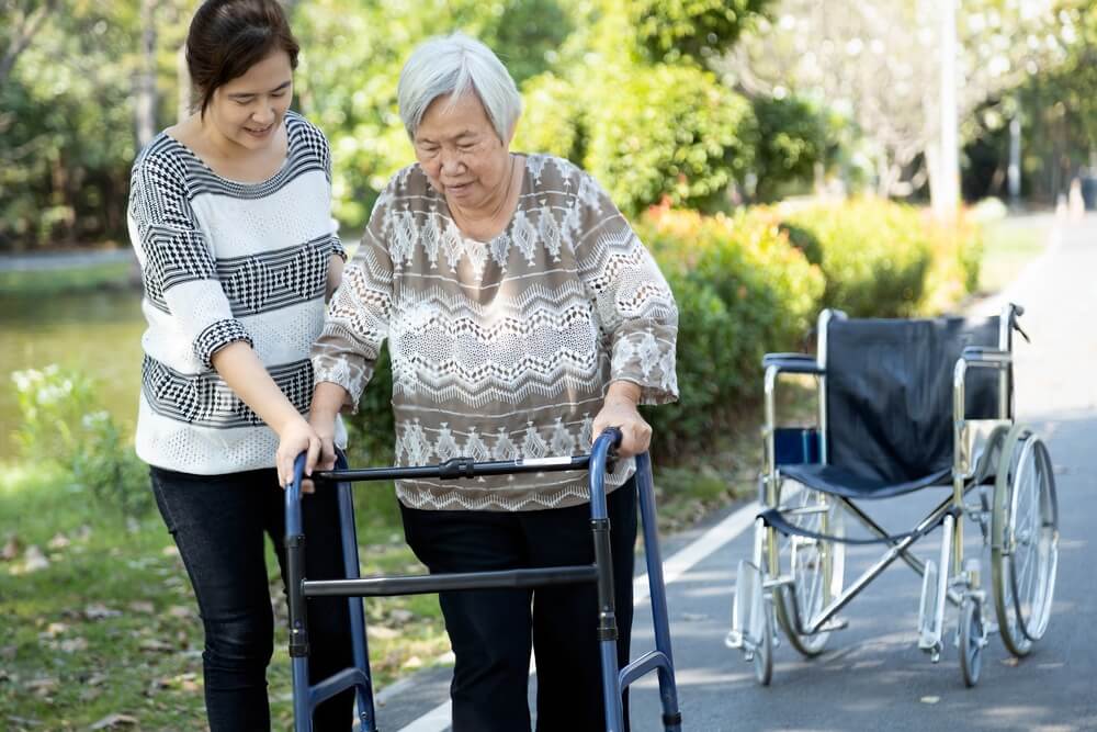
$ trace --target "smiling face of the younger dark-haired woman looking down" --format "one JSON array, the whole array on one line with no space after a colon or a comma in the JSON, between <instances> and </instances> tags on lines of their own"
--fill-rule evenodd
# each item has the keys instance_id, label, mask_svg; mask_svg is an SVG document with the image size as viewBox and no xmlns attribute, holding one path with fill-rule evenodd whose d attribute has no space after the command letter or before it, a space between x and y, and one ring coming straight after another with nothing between
<instances>
[{"instance_id":1,"label":"smiling face of the younger dark-haired woman looking down","mask_svg":"<svg viewBox=\"0 0 1097 732\"><path fill-rule=\"evenodd\" d=\"M218 87L205 119L229 143L258 151L274 140L292 98L290 55L278 50L244 76Z\"/></svg>"}]
</instances>

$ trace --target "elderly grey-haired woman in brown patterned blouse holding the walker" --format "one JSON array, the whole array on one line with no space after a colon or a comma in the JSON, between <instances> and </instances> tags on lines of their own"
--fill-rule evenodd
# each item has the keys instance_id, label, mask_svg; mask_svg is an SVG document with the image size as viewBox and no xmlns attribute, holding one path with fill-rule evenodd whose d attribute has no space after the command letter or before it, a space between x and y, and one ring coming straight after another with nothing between
<instances>
[{"instance_id":1,"label":"elderly grey-haired woman in brown patterned blouse holding the walker","mask_svg":"<svg viewBox=\"0 0 1097 732\"><path fill-rule=\"evenodd\" d=\"M396 460L429 464L569 455L602 429L647 449L638 404L677 397L674 297L593 179L567 160L511 153L521 98L467 36L429 41L399 79L418 162L373 209L313 348L312 423L331 460L336 414L354 409L388 338ZM607 478L619 656L627 660L636 538L634 461ZM407 541L432 573L590 563L586 476L402 481ZM445 593L456 732L603 725L592 585Z\"/></svg>"}]
</instances>

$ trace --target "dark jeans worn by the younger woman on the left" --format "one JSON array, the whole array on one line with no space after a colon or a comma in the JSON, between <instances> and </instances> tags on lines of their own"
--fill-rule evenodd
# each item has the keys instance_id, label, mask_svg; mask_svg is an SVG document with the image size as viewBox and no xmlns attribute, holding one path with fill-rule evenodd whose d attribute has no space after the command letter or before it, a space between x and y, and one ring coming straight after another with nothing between
<instances>
[{"instance_id":1,"label":"dark jeans worn by the younger woman on the left","mask_svg":"<svg viewBox=\"0 0 1097 732\"><path fill-rule=\"evenodd\" d=\"M274 618L263 534L271 538L285 582L284 493L273 469L227 475L191 475L151 468L160 515L179 547L205 627L202 666L211 732L271 729L267 666L274 650ZM346 576L336 492L306 495L305 575ZM308 604L309 680L352 665L346 598ZM353 692L316 709L315 729L349 730Z\"/></svg>"}]
</instances>

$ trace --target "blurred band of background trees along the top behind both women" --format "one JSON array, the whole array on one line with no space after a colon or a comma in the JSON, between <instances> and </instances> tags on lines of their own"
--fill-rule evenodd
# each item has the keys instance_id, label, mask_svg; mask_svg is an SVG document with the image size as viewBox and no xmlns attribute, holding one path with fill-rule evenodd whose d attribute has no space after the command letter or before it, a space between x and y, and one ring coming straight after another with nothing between
<instances>
[{"instance_id":1,"label":"blurred band of background trees along the top behind both women","mask_svg":"<svg viewBox=\"0 0 1097 732\"><path fill-rule=\"evenodd\" d=\"M330 137L336 214L360 228L410 159L410 48L462 29L527 99L518 149L570 157L634 213L818 191L926 198L943 0L293 0L297 108ZM953 0L954 1L954 0ZM0 251L125 243L136 150L184 109L188 0L0 2ZM1053 203L1092 165L1097 11L957 4L963 191Z\"/></svg>"}]
</instances>

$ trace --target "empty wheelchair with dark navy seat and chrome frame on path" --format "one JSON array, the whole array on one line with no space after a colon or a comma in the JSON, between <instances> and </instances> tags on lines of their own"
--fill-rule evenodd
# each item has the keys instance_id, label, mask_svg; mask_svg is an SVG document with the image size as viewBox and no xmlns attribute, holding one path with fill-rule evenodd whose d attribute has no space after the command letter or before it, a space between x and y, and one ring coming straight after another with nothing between
<instances>
[{"instance_id":1,"label":"empty wheelchair with dark navy seat and chrome frame on path","mask_svg":"<svg viewBox=\"0 0 1097 732\"><path fill-rule=\"evenodd\" d=\"M803 656L823 653L847 626L837 613L884 568L902 560L921 576L918 647L934 663L945 650L946 605L959 607L955 634L965 686L980 676L987 638L998 632L1028 655L1051 617L1059 507L1043 441L1015 421L1013 337L1024 309L964 319L848 318L819 314L817 354L770 353L765 367L765 470L754 551L738 564L725 643L772 677L780 627ZM813 427L777 423L784 374L814 378ZM890 534L867 500L951 488L913 529ZM989 548L991 595L980 558L964 558L964 517ZM846 536L847 519L867 538ZM912 545L938 526L940 550L923 560ZM860 532L864 533L864 532ZM884 553L848 586L847 544Z\"/></svg>"}]
</instances>

